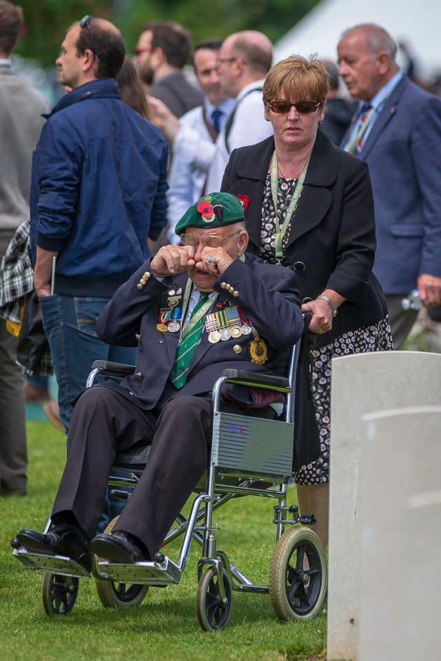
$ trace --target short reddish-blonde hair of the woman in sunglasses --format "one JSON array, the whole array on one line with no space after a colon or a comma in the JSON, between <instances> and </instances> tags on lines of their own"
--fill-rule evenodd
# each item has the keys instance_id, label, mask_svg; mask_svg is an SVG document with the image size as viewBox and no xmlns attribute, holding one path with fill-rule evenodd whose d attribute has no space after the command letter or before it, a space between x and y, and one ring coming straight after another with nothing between
<instances>
[{"instance_id":1,"label":"short reddish-blonde hair of the woman in sunglasses","mask_svg":"<svg viewBox=\"0 0 441 661\"><path fill-rule=\"evenodd\" d=\"M263 103L282 98L287 101L303 101L305 98L318 101L320 107L326 104L329 78L325 67L317 55L309 59L291 55L281 60L267 73L263 85Z\"/></svg>"}]
</instances>

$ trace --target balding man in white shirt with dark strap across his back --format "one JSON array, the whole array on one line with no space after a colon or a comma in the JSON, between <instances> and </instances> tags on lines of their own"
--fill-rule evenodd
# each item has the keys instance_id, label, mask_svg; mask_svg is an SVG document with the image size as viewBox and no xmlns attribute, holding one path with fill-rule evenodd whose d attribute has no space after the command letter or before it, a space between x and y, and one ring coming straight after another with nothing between
<instances>
[{"instance_id":1,"label":"balding man in white shirt with dark strap across his back","mask_svg":"<svg viewBox=\"0 0 441 661\"><path fill-rule=\"evenodd\" d=\"M218 191L233 149L255 145L272 134L262 109L263 81L271 67L271 41L262 32L245 30L225 39L219 53L220 84L236 106L216 140L206 190Z\"/></svg>"}]
</instances>

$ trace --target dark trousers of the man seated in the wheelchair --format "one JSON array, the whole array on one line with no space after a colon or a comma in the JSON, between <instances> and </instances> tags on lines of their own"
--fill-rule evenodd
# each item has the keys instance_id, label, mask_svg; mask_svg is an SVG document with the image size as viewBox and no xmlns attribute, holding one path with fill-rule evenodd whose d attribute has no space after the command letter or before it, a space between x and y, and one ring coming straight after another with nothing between
<instances>
[{"instance_id":1,"label":"dark trousers of the man seated in the wheelchair","mask_svg":"<svg viewBox=\"0 0 441 661\"><path fill-rule=\"evenodd\" d=\"M230 404L225 410L245 412ZM92 539L116 452L152 442L147 467L114 530L139 538L153 557L207 469L211 428L212 403L202 397L182 395L143 411L110 388L85 390L70 421L68 459L52 521L64 523L73 514Z\"/></svg>"}]
</instances>

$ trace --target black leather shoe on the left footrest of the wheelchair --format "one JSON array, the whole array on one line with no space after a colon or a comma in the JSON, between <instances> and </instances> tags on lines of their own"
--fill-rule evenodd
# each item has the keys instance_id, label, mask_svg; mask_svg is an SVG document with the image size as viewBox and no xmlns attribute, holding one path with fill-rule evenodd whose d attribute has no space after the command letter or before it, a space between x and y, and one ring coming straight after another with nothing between
<instances>
[{"instance_id":1,"label":"black leather shoe on the left footrest of the wheelchair","mask_svg":"<svg viewBox=\"0 0 441 661\"><path fill-rule=\"evenodd\" d=\"M17 540L26 551L67 556L79 562L88 571L92 567L90 545L81 541L76 531L68 524L54 525L47 533L23 528L17 533Z\"/></svg>"}]
</instances>

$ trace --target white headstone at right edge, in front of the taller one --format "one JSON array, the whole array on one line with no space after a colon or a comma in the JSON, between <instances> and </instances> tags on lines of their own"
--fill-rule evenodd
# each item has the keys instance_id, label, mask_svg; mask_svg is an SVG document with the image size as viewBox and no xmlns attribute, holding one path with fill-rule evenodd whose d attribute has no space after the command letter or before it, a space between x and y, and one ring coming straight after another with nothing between
<instances>
[{"instance_id":1,"label":"white headstone at right edge, in front of the taller one","mask_svg":"<svg viewBox=\"0 0 441 661\"><path fill-rule=\"evenodd\" d=\"M441 406L395 409L363 421L356 658L436 659L441 643Z\"/></svg>"}]
</instances>

